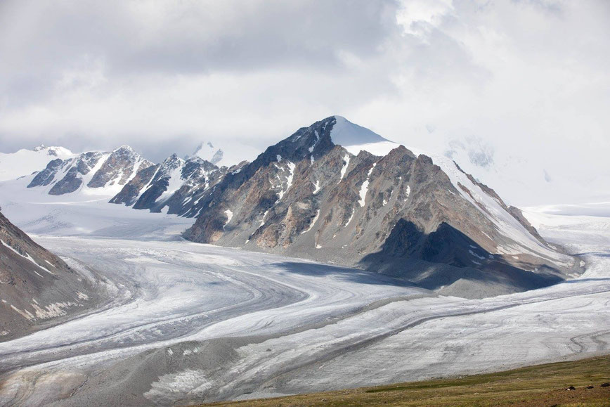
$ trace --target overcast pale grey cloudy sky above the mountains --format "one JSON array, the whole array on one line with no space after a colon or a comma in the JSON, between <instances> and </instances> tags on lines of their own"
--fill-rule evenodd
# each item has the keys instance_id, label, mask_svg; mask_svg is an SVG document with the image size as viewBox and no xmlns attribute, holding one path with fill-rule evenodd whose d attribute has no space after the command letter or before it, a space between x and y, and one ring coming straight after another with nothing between
<instances>
[{"instance_id":1,"label":"overcast pale grey cloudy sky above the mountains","mask_svg":"<svg viewBox=\"0 0 610 407\"><path fill-rule=\"evenodd\" d=\"M482 166L536 162L593 199L610 191L609 21L607 0L1 0L0 151L158 161L337 114Z\"/></svg>"}]
</instances>

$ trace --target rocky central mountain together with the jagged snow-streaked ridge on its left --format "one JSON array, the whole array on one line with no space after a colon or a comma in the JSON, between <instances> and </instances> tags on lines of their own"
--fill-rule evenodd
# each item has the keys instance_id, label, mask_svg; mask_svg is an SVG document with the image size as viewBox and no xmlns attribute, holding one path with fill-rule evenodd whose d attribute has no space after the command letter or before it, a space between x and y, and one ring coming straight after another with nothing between
<instances>
[{"instance_id":1,"label":"rocky central mountain together with the jagged snow-streaked ridge on its left","mask_svg":"<svg viewBox=\"0 0 610 407\"><path fill-rule=\"evenodd\" d=\"M207 160L205 159L207 158ZM183 237L388 273L444 295L486 297L580 273L521 211L446 156L331 116L252 162L202 144L152 164L128 146L58 157L30 176L48 195L194 218Z\"/></svg>"}]
</instances>

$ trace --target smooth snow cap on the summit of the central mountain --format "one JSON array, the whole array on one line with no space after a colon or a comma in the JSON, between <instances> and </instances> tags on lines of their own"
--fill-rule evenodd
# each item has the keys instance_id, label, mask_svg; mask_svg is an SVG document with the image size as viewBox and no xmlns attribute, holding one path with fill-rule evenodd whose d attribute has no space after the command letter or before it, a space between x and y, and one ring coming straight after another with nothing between
<instances>
[{"instance_id":1,"label":"smooth snow cap on the summit of the central mountain","mask_svg":"<svg viewBox=\"0 0 610 407\"><path fill-rule=\"evenodd\" d=\"M330 130L332 143L343 146L353 155L358 155L361 150L368 151L373 155L387 155L391 150L398 147L397 143L389 141L379 134L365 127L353 124L342 116L335 115L335 124Z\"/></svg>"}]
</instances>

